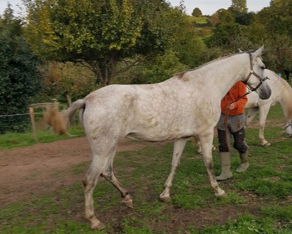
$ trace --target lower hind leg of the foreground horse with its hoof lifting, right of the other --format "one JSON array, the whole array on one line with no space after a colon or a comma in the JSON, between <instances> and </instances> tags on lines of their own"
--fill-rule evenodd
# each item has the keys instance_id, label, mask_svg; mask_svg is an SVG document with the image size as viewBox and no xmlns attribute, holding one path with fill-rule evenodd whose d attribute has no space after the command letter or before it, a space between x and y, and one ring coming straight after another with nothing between
<instances>
[{"instance_id":1,"label":"lower hind leg of the foreground horse with its hoof lifting, right of the other","mask_svg":"<svg viewBox=\"0 0 292 234\"><path fill-rule=\"evenodd\" d=\"M114 155L113 155L114 156ZM120 191L122 197L123 197L123 202L126 206L129 208L133 209L133 202L132 198L129 195L127 189L118 181L118 179L113 175L112 171L112 162L113 162L113 157L108 161L108 165L106 170L101 174L104 178L110 181L110 183L117 188L117 190Z\"/></svg>"}]
</instances>

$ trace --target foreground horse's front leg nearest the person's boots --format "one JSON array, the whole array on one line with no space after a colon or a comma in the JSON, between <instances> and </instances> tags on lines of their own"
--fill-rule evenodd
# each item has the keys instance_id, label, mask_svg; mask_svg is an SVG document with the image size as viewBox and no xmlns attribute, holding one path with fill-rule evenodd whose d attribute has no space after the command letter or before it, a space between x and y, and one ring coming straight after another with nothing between
<instances>
[{"instance_id":1,"label":"foreground horse's front leg nearest the person's boots","mask_svg":"<svg viewBox=\"0 0 292 234\"><path fill-rule=\"evenodd\" d=\"M213 131L213 129L212 129ZM213 142L214 133L209 135L199 136L202 148L202 154L204 158L205 167L208 172L209 181L211 183L211 188L214 190L216 196L227 196L224 190L220 189L218 182L214 175L213 170L213 158L212 158L212 142Z\"/></svg>"}]
</instances>

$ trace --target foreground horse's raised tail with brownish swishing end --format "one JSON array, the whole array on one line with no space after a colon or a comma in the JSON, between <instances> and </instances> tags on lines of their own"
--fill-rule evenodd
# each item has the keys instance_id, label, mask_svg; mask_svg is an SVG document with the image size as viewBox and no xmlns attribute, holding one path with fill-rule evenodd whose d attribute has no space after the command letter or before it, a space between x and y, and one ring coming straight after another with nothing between
<instances>
[{"instance_id":1,"label":"foreground horse's raised tail with brownish swishing end","mask_svg":"<svg viewBox=\"0 0 292 234\"><path fill-rule=\"evenodd\" d=\"M75 113L76 110L82 108L82 114L85 109L85 100L79 99L71 104L71 106L67 109L62 111L61 113L58 112L57 106L47 106L46 114L44 116L44 120L47 124L52 126L53 131L56 134L64 135L68 134L67 129L70 126L70 120ZM82 118L80 119L81 125L83 125Z\"/></svg>"}]
</instances>

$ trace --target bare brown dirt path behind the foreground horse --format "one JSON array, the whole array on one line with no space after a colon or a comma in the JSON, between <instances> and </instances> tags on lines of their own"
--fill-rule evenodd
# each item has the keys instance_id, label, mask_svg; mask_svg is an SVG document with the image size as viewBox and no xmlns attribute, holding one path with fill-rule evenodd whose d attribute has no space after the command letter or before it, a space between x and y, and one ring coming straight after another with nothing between
<instances>
[{"instance_id":1,"label":"bare brown dirt path behind the foreground horse","mask_svg":"<svg viewBox=\"0 0 292 234\"><path fill-rule=\"evenodd\" d=\"M117 152L164 144L125 139ZM55 191L81 180L73 166L91 161L86 137L59 140L11 150L0 150L0 207L19 198Z\"/></svg>"}]
</instances>

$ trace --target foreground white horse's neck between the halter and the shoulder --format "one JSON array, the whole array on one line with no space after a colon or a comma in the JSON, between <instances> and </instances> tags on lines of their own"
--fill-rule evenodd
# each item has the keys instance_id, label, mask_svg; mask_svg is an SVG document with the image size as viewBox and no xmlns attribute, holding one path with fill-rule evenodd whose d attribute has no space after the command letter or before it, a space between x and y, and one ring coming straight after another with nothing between
<instances>
[{"instance_id":1,"label":"foreground white horse's neck between the halter and the shoulder","mask_svg":"<svg viewBox=\"0 0 292 234\"><path fill-rule=\"evenodd\" d=\"M205 82L205 87L209 89L209 92L212 88L212 93L221 100L237 81L246 77L249 64L247 54L237 54L214 60L193 72L194 77L199 74L201 76L200 82ZM199 82L198 77L194 78L193 81Z\"/></svg>"}]
</instances>

